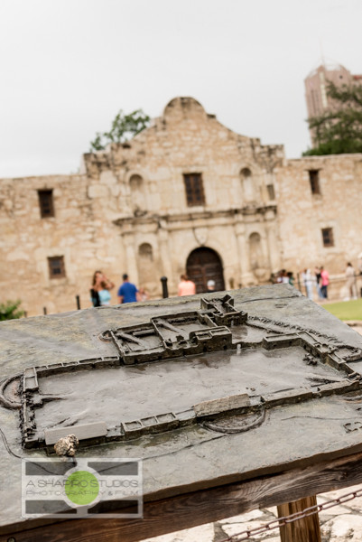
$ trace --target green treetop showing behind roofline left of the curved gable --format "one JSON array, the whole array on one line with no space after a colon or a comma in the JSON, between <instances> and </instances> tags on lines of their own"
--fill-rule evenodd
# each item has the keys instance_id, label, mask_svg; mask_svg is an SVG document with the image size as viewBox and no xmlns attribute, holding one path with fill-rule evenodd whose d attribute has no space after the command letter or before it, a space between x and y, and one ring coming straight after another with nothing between
<instances>
[{"instance_id":1,"label":"green treetop showing behind roofline left of the curved gable","mask_svg":"<svg viewBox=\"0 0 362 542\"><path fill-rule=\"evenodd\" d=\"M109 143L125 143L142 132L149 124L150 117L142 109L136 109L129 115L125 115L120 109L109 132L103 134L97 132L96 137L90 142L90 152L102 151Z\"/></svg>"}]
</instances>

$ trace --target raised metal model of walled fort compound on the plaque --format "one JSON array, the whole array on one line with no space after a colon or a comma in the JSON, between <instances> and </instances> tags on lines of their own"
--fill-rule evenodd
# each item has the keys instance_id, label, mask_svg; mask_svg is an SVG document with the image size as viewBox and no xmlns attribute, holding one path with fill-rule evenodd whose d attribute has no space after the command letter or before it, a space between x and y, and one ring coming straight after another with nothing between
<instances>
[{"instance_id":1,"label":"raised metal model of walled fort compound on the plaque","mask_svg":"<svg viewBox=\"0 0 362 542\"><path fill-rule=\"evenodd\" d=\"M243 433L276 406L362 390L362 350L249 317L230 295L99 340L115 355L36 366L2 383L1 404L20 410L23 446L51 451L70 434L91 445L196 424Z\"/></svg>"}]
</instances>

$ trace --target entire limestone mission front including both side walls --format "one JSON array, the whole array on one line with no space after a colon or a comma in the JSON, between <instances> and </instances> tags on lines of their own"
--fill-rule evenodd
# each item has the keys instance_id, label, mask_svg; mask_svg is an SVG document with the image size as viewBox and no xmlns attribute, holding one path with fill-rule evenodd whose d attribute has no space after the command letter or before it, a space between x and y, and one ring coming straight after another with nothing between
<instances>
[{"instance_id":1,"label":"entire limestone mission front including both side walls","mask_svg":"<svg viewBox=\"0 0 362 542\"><path fill-rule=\"evenodd\" d=\"M161 276L176 294L185 270L200 290L209 278L265 283L281 267L340 275L362 251L361 187L361 154L286 160L283 145L175 98L129 143L84 154L80 174L0 180L2 299L33 315L72 310L79 294L85 308L99 268L116 285L127 272L153 297Z\"/></svg>"}]
</instances>

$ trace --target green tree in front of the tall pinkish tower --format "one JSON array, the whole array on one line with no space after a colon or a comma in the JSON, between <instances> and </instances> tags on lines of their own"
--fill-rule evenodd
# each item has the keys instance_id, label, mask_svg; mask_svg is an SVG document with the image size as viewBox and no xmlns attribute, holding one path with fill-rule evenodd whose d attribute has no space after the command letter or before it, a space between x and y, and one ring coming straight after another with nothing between
<instances>
[{"instance_id":1,"label":"green tree in front of the tall pinkish tower","mask_svg":"<svg viewBox=\"0 0 362 542\"><path fill-rule=\"evenodd\" d=\"M303 156L362 153L362 85L336 87L330 81L327 94L333 107L320 117L308 119L315 147Z\"/></svg>"}]
</instances>

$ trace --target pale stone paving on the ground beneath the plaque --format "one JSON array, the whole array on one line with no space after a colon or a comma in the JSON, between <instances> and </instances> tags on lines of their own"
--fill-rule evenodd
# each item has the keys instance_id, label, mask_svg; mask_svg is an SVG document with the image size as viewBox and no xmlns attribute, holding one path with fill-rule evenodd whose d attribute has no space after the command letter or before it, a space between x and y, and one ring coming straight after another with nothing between
<instances>
[{"instance_id":1,"label":"pale stone paving on the ground beneath the plaque","mask_svg":"<svg viewBox=\"0 0 362 542\"><path fill-rule=\"evenodd\" d=\"M348 323L362 335L362 322ZM362 485L322 493L317 497L317 502L321 504L356 490L362 490ZM349 500L345 504L330 508L325 512L322 511L319 516L322 542L362 542L362 497ZM215 523L187 528L162 537L147 538L145 542L221 542L221 540L247 528L260 527L276 518L276 507L255 509L247 514L221 519ZM265 534L251 537L249 540L252 542L256 540L280 542L279 530L274 529Z\"/></svg>"}]
</instances>

